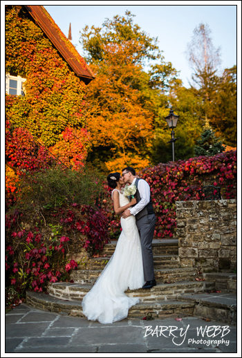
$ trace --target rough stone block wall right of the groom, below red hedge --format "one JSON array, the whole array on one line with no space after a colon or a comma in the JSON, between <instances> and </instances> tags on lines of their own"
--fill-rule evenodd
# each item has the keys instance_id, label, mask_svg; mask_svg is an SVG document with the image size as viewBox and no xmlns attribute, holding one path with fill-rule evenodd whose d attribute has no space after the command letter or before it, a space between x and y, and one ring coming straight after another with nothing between
<instances>
[{"instance_id":1,"label":"rough stone block wall right of the groom, below red hedge","mask_svg":"<svg viewBox=\"0 0 242 358\"><path fill-rule=\"evenodd\" d=\"M180 267L236 270L236 200L177 201Z\"/></svg>"}]
</instances>

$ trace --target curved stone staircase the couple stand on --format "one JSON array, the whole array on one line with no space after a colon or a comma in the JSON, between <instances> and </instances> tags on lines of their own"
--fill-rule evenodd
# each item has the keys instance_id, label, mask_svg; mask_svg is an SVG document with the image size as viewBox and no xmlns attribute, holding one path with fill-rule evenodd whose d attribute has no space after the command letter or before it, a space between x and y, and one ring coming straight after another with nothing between
<instances>
[{"instance_id":1,"label":"curved stone staircase the couple stand on","mask_svg":"<svg viewBox=\"0 0 242 358\"><path fill-rule=\"evenodd\" d=\"M71 281L74 281L73 283L49 283L48 295L27 292L27 303L42 310L83 317L82 299L91 290L109 261L115 245L115 242L105 245L102 255L106 256L89 258L86 265L79 265L77 270L72 270ZM140 303L131 307L128 317L142 319L148 313L159 318L187 317L194 315L195 312L203 312L201 307L206 307L205 312L208 312L207 303L202 300L202 294L205 296L204 293L218 290L216 288L218 282L221 282L223 292L226 294L236 289L236 274L202 274L199 277L205 277L206 281L196 281L196 267L180 267L178 240L176 239L153 240L152 249L157 285L151 290L140 288L125 292L128 296L140 297ZM197 305L199 307L196 307ZM215 306L216 309L225 311L227 323L234 320L234 305L230 307L230 305L219 305L216 302ZM214 308L212 310L214 312Z\"/></svg>"}]
</instances>

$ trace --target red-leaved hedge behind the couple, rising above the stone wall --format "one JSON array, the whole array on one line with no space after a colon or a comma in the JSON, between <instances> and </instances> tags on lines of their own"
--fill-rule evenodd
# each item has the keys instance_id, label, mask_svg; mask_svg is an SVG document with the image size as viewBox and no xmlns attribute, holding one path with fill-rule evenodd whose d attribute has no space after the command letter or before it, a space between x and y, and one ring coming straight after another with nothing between
<instances>
[{"instance_id":1,"label":"red-leaved hedge behind the couple, rising above the stone wall","mask_svg":"<svg viewBox=\"0 0 242 358\"><path fill-rule=\"evenodd\" d=\"M221 187L223 199L236 197L236 151L216 156L200 156L143 169L140 178L149 182L156 212L155 238L171 238L176 231L176 201L199 200L198 189L205 185ZM120 216L115 216L112 189L104 185L105 207L111 237L120 235Z\"/></svg>"}]
</instances>

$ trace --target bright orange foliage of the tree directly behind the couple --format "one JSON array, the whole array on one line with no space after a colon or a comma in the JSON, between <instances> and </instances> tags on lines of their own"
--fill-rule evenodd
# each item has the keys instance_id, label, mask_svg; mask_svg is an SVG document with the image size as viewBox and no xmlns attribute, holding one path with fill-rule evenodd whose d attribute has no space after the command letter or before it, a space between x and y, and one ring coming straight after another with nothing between
<instances>
[{"instance_id":1,"label":"bright orange foliage of the tree directly behind the couple","mask_svg":"<svg viewBox=\"0 0 242 358\"><path fill-rule=\"evenodd\" d=\"M141 66L133 64L132 46L105 46L106 66L93 65L97 73L87 91L87 124L93 147L106 147L106 169L120 171L149 165L144 152L151 147L153 113L145 107L143 93L134 84Z\"/></svg>"}]
</instances>

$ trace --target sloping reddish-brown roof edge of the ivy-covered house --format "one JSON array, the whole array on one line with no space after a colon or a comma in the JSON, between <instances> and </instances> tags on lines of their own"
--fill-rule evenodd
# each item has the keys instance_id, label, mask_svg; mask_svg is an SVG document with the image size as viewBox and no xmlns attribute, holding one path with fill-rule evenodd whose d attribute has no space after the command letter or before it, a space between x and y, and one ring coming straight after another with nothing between
<instances>
[{"instance_id":1,"label":"sloping reddish-brown roof edge of the ivy-covered house","mask_svg":"<svg viewBox=\"0 0 242 358\"><path fill-rule=\"evenodd\" d=\"M89 84L95 75L86 64L82 56L77 52L75 46L64 35L62 30L57 26L53 18L41 5L24 5L32 18L37 22L41 30L44 31L48 39L53 43L55 48L61 53L66 62L71 66L75 74Z\"/></svg>"}]
</instances>

